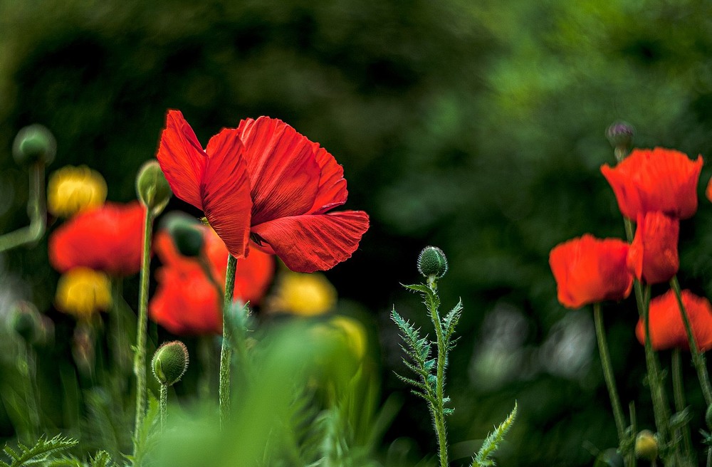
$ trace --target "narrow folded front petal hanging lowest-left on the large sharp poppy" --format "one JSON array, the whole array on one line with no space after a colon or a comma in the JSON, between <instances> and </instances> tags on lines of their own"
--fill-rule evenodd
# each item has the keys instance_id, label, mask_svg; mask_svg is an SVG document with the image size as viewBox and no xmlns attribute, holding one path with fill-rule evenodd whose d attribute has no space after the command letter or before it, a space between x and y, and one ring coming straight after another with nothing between
<instances>
[{"instance_id":1,"label":"narrow folded front petal hanging lowest-left on the large sharp poppy","mask_svg":"<svg viewBox=\"0 0 712 467\"><path fill-rule=\"evenodd\" d=\"M244 147L237 130L211 138L200 196L210 225L236 258L245 256L250 238L252 201Z\"/></svg>"}]
</instances>

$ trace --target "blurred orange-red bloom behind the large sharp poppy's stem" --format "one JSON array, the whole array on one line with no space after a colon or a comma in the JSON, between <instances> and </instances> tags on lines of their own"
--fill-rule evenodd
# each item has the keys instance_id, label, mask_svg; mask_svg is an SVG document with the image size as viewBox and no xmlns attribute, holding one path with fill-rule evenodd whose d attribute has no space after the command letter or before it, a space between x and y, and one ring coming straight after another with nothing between
<instances>
[{"instance_id":1,"label":"blurred orange-red bloom behind the large sharp poppy's stem","mask_svg":"<svg viewBox=\"0 0 712 467\"><path fill-rule=\"evenodd\" d=\"M204 250L217 285L224 286L227 248L209 227L204 231ZM149 303L149 314L176 335L221 334L222 294L204 273L197 258L182 256L165 232L159 231L155 249L163 266L156 271L157 288ZM271 255L253 251L238 261L234 298L260 302L274 275Z\"/></svg>"}]
</instances>

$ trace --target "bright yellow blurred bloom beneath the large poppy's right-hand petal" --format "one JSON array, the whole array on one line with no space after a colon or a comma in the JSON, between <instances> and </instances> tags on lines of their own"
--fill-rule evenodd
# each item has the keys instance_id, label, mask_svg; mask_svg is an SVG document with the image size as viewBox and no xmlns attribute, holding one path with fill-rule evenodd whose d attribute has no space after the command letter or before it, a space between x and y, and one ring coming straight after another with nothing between
<instances>
[{"instance_id":1,"label":"bright yellow blurred bloom beneath the large poppy's right-hand petal","mask_svg":"<svg viewBox=\"0 0 712 467\"><path fill-rule=\"evenodd\" d=\"M336 304L336 289L320 273L283 273L267 308L300 316L321 315Z\"/></svg>"}]
</instances>

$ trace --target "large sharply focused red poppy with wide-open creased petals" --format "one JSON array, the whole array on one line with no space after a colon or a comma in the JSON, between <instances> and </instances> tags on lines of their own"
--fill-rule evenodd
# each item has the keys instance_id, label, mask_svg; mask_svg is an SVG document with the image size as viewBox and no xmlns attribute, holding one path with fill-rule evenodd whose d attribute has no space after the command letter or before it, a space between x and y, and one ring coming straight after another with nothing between
<instances>
[{"instance_id":1,"label":"large sharply focused red poppy with wide-open creased petals","mask_svg":"<svg viewBox=\"0 0 712 467\"><path fill-rule=\"evenodd\" d=\"M236 258L251 238L293 271L325 270L350 258L368 229L363 211L326 214L346 202L343 168L281 120L242 120L203 151L170 110L157 159L174 194L203 209Z\"/></svg>"}]
</instances>

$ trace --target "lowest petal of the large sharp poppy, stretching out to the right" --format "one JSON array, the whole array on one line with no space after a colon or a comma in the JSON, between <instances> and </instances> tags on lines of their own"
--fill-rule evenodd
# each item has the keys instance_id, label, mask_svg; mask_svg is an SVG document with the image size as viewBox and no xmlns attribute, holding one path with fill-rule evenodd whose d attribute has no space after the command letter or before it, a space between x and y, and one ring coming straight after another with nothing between
<instances>
[{"instance_id":1,"label":"lowest petal of the large sharp poppy, stretching out to the right","mask_svg":"<svg viewBox=\"0 0 712 467\"><path fill-rule=\"evenodd\" d=\"M281 217L252 228L299 273L325 271L350 258L367 230L364 211Z\"/></svg>"}]
</instances>

